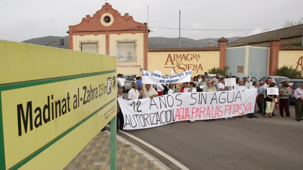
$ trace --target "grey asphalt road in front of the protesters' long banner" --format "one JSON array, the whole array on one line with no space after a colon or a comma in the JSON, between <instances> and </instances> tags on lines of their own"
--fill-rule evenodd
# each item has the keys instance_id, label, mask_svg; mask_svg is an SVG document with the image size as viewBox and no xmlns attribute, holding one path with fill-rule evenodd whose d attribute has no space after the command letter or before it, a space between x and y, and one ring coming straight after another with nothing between
<instances>
[{"instance_id":1,"label":"grey asphalt road in front of the protesters' long banner","mask_svg":"<svg viewBox=\"0 0 303 170\"><path fill-rule=\"evenodd\" d=\"M295 121L294 106L290 111L290 119L279 118L279 111L275 110L274 118L265 119L258 113L259 118L253 119L183 121L126 132L190 170L303 170L303 121ZM161 155L135 143L172 170L177 169Z\"/></svg>"}]
</instances>

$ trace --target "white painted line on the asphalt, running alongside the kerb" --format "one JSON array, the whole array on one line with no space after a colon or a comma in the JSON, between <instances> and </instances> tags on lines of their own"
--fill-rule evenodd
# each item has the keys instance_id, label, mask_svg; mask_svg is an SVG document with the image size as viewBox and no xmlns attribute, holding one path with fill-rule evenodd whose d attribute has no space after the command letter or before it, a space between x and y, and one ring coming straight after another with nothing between
<instances>
[{"instance_id":1,"label":"white painted line on the asphalt, running alongside the kerb","mask_svg":"<svg viewBox=\"0 0 303 170\"><path fill-rule=\"evenodd\" d=\"M110 128L109 125L106 125L106 126ZM170 155L164 153L163 151L160 151L159 149L157 149L156 147L152 146L151 144L149 144L149 143L147 143L147 142L145 142L145 141L143 141L143 140L137 138L136 136L134 136L134 135L132 135L132 134L130 134L130 133L128 133L128 132L124 132L124 131L119 131L119 132L121 132L121 133L123 133L123 134L125 134L125 135L130 136L130 137L133 138L134 140L136 140L136 141L142 143L143 145L149 147L149 148L152 149L153 151L159 153L160 155L162 155L162 156L165 157L166 159L168 159L168 160L170 160L171 162L173 162L173 163L174 163L177 167L179 167L181 170L190 170L190 169L188 169L187 167L185 167L183 164L181 164L180 162L178 162L177 160L173 159L173 157L171 157Z\"/></svg>"}]
</instances>

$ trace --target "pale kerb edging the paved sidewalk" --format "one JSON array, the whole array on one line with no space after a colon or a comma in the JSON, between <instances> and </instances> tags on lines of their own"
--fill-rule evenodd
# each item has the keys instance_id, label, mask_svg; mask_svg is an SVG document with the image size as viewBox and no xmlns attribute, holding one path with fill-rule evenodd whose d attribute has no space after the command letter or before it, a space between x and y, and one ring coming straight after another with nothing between
<instances>
[{"instance_id":1,"label":"pale kerb edging the paved sidewalk","mask_svg":"<svg viewBox=\"0 0 303 170\"><path fill-rule=\"evenodd\" d=\"M110 132L108 130L105 131L105 132L110 135ZM129 140L125 139L124 137L117 135L117 139L120 140L121 142L125 143L125 144L130 145L132 147L132 149L137 151L138 153L143 154L148 160L150 160L160 170L171 170L169 167L167 167L165 164L163 164L159 159L155 158L150 153L148 153L147 151L144 151L143 149L141 149L137 145L131 143Z\"/></svg>"}]
</instances>

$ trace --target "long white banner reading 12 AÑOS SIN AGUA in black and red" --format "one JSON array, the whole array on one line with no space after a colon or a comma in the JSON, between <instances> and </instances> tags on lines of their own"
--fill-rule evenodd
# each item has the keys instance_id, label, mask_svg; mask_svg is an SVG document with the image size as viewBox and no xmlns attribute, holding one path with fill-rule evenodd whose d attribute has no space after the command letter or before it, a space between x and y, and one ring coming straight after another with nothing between
<instances>
[{"instance_id":1,"label":"long white banner reading 12 A\u00d1OS SIN AGUA in black and red","mask_svg":"<svg viewBox=\"0 0 303 170\"><path fill-rule=\"evenodd\" d=\"M118 98L125 130L157 127L183 120L207 120L255 112L257 89L174 93L154 98Z\"/></svg>"}]
</instances>

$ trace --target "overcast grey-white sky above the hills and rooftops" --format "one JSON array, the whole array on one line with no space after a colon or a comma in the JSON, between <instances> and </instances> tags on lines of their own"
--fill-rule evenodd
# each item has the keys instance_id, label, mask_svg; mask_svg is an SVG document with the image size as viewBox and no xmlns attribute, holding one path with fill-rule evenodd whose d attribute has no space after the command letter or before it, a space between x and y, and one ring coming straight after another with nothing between
<instances>
[{"instance_id":1,"label":"overcast grey-white sky above the hills and rooftops","mask_svg":"<svg viewBox=\"0 0 303 170\"><path fill-rule=\"evenodd\" d=\"M121 15L129 13L150 27L250 31L181 30L181 37L202 39L245 37L262 29L279 29L286 19L303 17L303 0L108 0ZM45 36L67 36L68 25L80 23L102 8L105 0L3 0L0 39L22 41ZM150 28L149 37L176 38L178 30Z\"/></svg>"}]
</instances>

